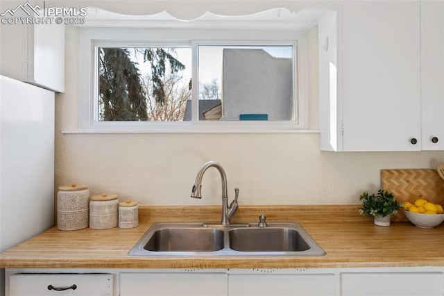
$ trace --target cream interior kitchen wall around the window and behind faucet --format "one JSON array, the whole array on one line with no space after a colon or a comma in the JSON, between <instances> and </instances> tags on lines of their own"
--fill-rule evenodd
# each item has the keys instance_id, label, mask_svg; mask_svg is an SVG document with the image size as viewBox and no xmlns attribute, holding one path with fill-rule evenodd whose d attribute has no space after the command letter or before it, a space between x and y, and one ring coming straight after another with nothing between
<instances>
[{"instance_id":1,"label":"cream interior kitchen wall around the window and behind faucet","mask_svg":"<svg viewBox=\"0 0 444 296\"><path fill-rule=\"evenodd\" d=\"M318 133L79 134L78 28L66 32L65 94L56 100L56 187L85 183L92 194L112 192L139 204L221 204L219 173L203 178L203 199L191 199L196 173L219 161L229 197L239 204L358 204L377 190L380 170L436 168L443 151L320 151ZM317 29L309 31L309 128L318 129Z\"/></svg>"}]
</instances>

